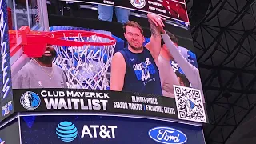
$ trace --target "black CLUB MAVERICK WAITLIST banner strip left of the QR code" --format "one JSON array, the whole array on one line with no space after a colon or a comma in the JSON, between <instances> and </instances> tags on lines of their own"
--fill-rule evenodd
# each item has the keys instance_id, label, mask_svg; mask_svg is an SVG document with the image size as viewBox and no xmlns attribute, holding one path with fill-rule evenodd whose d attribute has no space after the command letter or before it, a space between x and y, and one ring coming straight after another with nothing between
<instances>
[{"instance_id":1,"label":"black CLUB MAVERICK WAITLIST banner strip left of the QR code","mask_svg":"<svg viewBox=\"0 0 256 144\"><path fill-rule=\"evenodd\" d=\"M14 90L14 103L16 112L105 112L178 119L175 98L133 92L22 89Z\"/></svg>"}]
</instances>

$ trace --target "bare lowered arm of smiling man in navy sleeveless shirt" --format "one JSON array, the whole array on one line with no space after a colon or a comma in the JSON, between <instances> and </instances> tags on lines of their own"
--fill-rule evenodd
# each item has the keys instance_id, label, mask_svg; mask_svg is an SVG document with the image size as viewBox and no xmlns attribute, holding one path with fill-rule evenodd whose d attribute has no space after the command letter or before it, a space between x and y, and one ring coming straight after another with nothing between
<instances>
[{"instance_id":1,"label":"bare lowered arm of smiling man in navy sleeveless shirt","mask_svg":"<svg viewBox=\"0 0 256 144\"><path fill-rule=\"evenodd\" d=\"M120 52L114 54L111 62L110 90L122 91L126 74L126 62Z\"/></svg>"}]
</instances>

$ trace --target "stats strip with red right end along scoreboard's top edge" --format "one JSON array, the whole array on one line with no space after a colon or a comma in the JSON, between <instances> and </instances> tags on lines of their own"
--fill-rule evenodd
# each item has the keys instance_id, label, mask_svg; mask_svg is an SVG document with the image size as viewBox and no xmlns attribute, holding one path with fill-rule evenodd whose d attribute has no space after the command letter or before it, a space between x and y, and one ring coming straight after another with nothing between
<instances>
[{"instance_id":1,"label":"stats strip with red right end along scoreboard's top edge","mask_svg":"<svg viewBox=\"0 0 256 144\"><path fill-rule=\"evenodd\" d=\"M75 2L88 2L138 10L146 13L150 12L160 14L166 18L189 23L186 3L183 0L77 0Z\"/></svg>"}]
</instances>

